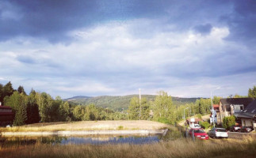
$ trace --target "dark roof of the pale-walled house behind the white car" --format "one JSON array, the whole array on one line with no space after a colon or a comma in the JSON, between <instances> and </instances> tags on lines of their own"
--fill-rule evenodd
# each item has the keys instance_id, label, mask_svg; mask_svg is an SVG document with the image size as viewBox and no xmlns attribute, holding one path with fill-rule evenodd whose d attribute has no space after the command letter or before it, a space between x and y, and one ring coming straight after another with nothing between
<instances>
[{"instance_id":1,"label":"dark roof of the pale-walled house behind the white car","mask_svg":"<svg viewBox=\"0 0 256 158\"><path fill-rule=\"evenodd\" d=\"M225 98L220 99L220 102L223 105L231 105L231 104L243 104L244 107L247 107L249 103L251 103L254 99L252 98Z\"/></svg>"}]
</instances>

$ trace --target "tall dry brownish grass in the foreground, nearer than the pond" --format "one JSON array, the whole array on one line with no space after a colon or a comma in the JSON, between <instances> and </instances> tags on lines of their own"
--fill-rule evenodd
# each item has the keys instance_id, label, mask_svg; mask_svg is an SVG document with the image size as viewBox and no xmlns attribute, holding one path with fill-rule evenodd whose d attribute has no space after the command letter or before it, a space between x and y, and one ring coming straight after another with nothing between
<instances>
[{"instance_id":1,"label":"tall dry brownish grass in the foreground, nearer than the pond","mask_svg":"<svg viewBox=\"0 0 256 158\"><path fill-rule=\"evenodd\" d=\"M256 141L180 138L149 145L30 145L0 149L1 157L254 157Z\"/></svg>"}]
</instances>

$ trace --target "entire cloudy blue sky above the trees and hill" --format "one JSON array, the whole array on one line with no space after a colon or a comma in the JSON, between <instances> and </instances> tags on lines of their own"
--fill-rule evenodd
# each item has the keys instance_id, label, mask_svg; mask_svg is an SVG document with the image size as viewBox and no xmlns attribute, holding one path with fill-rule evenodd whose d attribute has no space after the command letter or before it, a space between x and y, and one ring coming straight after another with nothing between
<instances>
[{"instance_id":1,"label":"entire cloudy blue sky above the trees and hill","mask_svg":"<svg viewBox=\"0 0 256 158\"><path fill-rule=\"evenodd\" d=\"M254 0L0 1L0 83L27 93L246 96L255 43Z\"/></svg>"}]
</instances>

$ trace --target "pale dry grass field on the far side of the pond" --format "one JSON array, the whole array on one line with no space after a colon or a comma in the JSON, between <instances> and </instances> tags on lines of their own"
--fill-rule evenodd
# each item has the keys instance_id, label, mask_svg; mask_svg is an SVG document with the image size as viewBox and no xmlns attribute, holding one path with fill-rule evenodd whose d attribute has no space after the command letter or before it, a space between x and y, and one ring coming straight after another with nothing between
<instances>
[{"instance_id":1,"label":"pale dry grass field on the far side of the pond","mask_svg":"<svg viewBox=\"0 0 256 158\"><path fill-rule=\"evenodd\" d=\"M27 126L0 128L0 132L36 132L61 130L156 130L169 128L160 122L152 121L82 121L82 122L51 122L36 123Z\"/></svg>"}]
</instances>

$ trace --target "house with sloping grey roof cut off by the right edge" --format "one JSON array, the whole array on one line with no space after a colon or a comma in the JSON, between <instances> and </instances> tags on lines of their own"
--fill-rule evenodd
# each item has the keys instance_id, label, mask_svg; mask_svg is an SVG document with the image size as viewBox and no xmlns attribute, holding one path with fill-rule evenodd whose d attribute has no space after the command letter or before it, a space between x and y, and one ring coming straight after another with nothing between
<instances>
[{"instance_id":1,"label":"house with sloping grey roof cut off by the right edge","mask_svg":"<svg viewBox=\"0 0 256 158\"><path fill-rule=\"evenodd\" d=\"M238 118L241 119L242 126L252 126L256 130L256 100L251 102Z\"/></svg>"}]
</instances>

